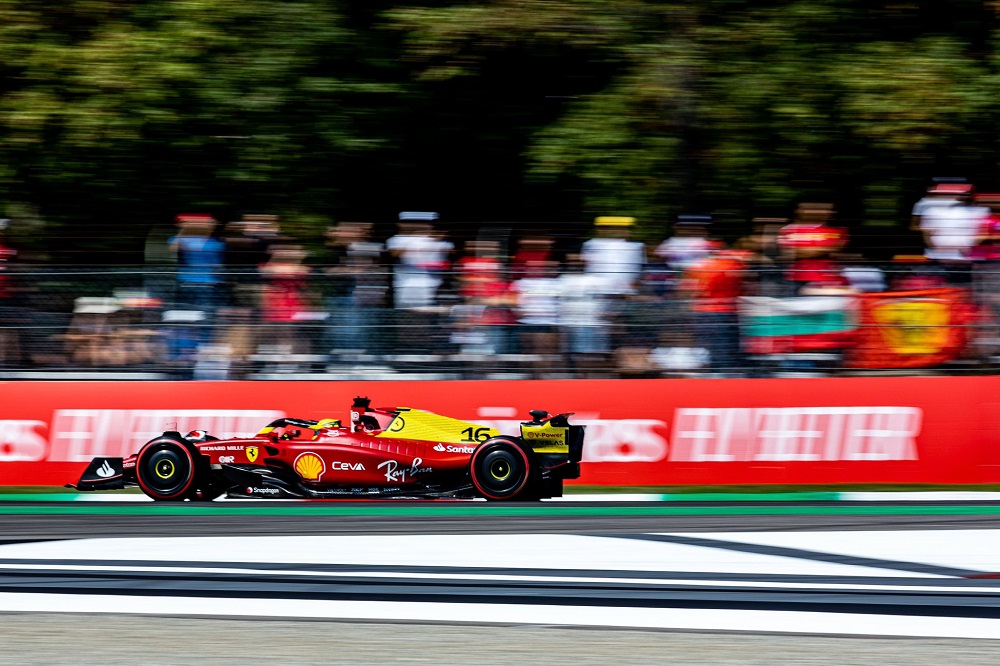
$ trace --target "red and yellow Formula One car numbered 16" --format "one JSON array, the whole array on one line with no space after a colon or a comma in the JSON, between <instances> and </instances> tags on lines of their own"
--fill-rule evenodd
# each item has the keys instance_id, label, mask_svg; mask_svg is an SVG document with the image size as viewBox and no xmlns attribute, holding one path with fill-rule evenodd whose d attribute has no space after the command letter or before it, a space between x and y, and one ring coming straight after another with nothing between
<instances>
[{"instance_id":1,"label":"red and yellow Formula One car numbered 16","mask_svg":"<svg viewBox=\"0 0 1000 666\"><path fill-rule=\"evenodd\" d=\"M154 500L472 498L538 500L580 476L584 426L531 411L520 437L355 398L351 422L278 419L254 437L164 432L127 458L94 458L77 490L138 485Z\"/></svg>"}]
</instances>

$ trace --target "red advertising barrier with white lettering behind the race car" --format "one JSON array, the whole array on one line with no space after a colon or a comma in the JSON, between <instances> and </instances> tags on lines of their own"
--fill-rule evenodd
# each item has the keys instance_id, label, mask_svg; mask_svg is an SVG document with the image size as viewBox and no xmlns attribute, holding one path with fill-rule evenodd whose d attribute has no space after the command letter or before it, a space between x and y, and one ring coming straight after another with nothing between
<instances>
[{"instance_id":1,"label":"red advertising barrier with white lettering behind the race car","mask_svg":"<svg viewBox=\"0 0 1000 666\"><path fill-rule=\"evenodd\" d=\"M0 485L61 486L167 429L346 419L355 395L514 433L588 426L586 485L1000 483L1000 377L463 382L8 382Z\"/></svg>"}]
</instances>

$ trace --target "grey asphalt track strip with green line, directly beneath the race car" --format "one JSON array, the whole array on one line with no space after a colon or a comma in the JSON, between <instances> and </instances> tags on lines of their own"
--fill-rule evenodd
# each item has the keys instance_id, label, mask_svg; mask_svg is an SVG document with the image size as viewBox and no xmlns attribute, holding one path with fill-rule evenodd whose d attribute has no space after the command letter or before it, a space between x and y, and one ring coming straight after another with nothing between
<instances>
[{"instance_id":1,"label":"grey asphalt track strip with green line, directly beneath the race car","mask_svg":"<svg viewBox=\"0 0 1000 666\"><path fill-rule=\"evenodd\" d=\"M126 536L997 529L1000 502L0 503L0 543Z\"/></svg>"}]
</instances>

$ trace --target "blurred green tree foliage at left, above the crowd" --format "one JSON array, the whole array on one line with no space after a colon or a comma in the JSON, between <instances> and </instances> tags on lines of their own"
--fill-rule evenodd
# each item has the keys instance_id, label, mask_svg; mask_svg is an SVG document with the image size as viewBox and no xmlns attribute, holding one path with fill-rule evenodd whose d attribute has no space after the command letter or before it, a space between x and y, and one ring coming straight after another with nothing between
<instances>
[{"instance_id":1,"label":"blurred green tree foliage at left, above the crowd","mask_svg":"<svg viewBox=\"0 0 1000 666\"><path fill-rule=\"evenodd\" d=\"M0 1L7 198L104 244L190 209L322 210L395 91L344 24L308 0Z\"/></svg>"}]
</instances>

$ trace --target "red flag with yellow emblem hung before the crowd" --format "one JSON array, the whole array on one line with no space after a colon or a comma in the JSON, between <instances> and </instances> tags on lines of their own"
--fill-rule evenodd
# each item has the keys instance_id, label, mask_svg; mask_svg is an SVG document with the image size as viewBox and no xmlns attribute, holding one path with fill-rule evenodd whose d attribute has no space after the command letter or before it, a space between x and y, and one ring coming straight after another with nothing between
<instances>
[{"instance_id":1,"label":"red flag with yellow emblem hung before the crowd","mask_svg":"<svg viewBox=\"0 0 1000 666\"><path fill-rule=\"evenodd\" d=\"M966 290L923 289L864 294L861 331L847 365L924 368L950 361L965 348L972 304Z\"/></svg>"}]
</instances>

